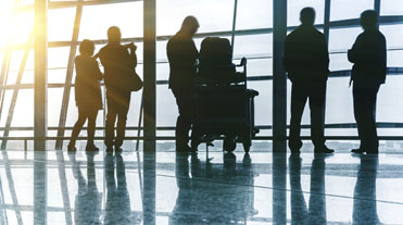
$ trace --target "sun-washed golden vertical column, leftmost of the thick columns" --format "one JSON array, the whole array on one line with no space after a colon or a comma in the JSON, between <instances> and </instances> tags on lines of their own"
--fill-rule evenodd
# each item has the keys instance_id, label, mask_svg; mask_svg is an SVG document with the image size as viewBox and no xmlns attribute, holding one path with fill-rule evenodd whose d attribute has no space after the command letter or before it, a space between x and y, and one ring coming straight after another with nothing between
<instances>
[{"instance_id":1,"label":"sun-washed golden vertical column, leftmost of the thick columns","mask_svg":"<svg viewBox=\"0 0 403 225\"><path fill-rule=\"evenodd\" d=\"M34 137L47 136L47 61L48 61L48 32L47 14L48 1L35 0L35 83L34 83ZM35 150L46 150L46 141L36 139Z\"/></svg>"}]
</instances>

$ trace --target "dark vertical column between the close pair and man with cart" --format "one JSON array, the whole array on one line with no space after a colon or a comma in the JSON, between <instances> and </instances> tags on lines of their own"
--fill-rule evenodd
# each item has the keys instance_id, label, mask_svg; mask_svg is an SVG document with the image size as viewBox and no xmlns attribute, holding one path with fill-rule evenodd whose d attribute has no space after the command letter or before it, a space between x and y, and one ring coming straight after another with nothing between
<instances>
[{"instance_id":1,"label":"dark vertical column between the close pair and man with cart","mask_svg":"<svg viewBox=\"0 0 403 225\"><path fill-rule=\"evenodd\" d=\"M155 38L155 0L143 1L144 4L144 50L143 50L143 112L144 112L144 151L155 151L156 117L156 38Z\"/></svg>"}]
</instances>

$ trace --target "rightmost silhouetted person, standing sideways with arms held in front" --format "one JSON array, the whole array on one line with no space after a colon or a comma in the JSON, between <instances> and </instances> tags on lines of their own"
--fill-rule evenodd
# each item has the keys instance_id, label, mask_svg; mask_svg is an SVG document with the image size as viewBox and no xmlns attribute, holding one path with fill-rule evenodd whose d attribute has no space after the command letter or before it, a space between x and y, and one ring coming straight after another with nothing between
<instances>
[{"instance_id":1,"label":"rightmost silhouetted person, standing sideways with arms held in front","mask_svg":"<svg viewBox=\"0 0 403 225\"><path fill-rule=\"evenodd\" d=\"M387 43L377 28L378 15L373 10L361 14L364 32L349 50L349 61L354 63L351 72L353 83L354 116L361 145L354 153L378 153L376 129L376 101L387 74Z\"/></svg>"}]
</instances>

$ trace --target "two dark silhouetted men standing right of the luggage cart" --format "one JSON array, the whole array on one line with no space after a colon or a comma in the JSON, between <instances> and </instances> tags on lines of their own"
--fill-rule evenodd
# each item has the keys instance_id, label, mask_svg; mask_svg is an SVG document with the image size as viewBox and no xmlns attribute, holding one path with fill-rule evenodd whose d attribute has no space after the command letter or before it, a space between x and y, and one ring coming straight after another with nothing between
<instances>
[{"instance_id":1,"label":"two dark silhouetted men standing right of the luggage cart","mask_svg":"<svg viewBox=\"0 0 403 225\"><path fill-rule=\"evenodd\" d=\"M328 47L325 36L314 27L314 9L303 9L300 18L301 26L288 35L285 42L284 65L292 83L289 148L292 153L300 152L301 118L308 99L314 151L332 153L324 137L326 83L330 74ZM354 116L361 140L360 148L352 152L378 153L375 114L377 92L386 79L386 39L377 28L375 11L363 12L361 25L364 32L348 54L354 63L350 84L353 84Z\"/></svg>"}]
</instances>

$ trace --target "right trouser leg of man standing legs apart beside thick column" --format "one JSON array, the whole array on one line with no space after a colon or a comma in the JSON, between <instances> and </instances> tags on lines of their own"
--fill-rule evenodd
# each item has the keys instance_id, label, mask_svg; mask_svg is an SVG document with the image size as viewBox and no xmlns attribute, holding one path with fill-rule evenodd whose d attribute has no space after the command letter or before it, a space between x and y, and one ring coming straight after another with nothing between
<instances>
[{"instance_id":1,"label":"right trouser leg of man standing legs apart beside thick column","mask_svg":"<svg viewBox=\"0 0 403 225\"><path fill-rule=\"evenodd\" d=\"M324 116L325 116L325 96L326 83L314 85L311 88L311 137L315 147L325 146Z\"/></svg>"}]
</instances>

